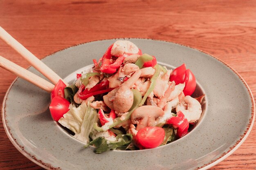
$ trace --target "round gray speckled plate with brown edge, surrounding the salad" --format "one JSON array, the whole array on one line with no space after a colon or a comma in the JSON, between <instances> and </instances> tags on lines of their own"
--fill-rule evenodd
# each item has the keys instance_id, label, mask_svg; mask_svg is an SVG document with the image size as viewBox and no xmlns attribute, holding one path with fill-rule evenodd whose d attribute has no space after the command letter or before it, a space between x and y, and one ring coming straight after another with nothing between
<instances>
[{"instance_id":1,"label":"round gray speckled plate with brown edge, surrounding the salad","mask_svg":"<svg viewBox=\"0 0 256 170\"><path fill-rule=\"evenodd\" d=\"M4 128L13 145L43 168L62 170L207 169L231 155L249 135L255 115L252 93L240 75L215 57L187 46L130 41L159 62L172 68L184 62L193 71L198 94L205 92L207 97L204 114L188 135L159 148L94 154L93 147L83 149L83 143L52 121L50 95L18 78L7 91L2 108ZM93 58L99 59L113 42L72 46L45 57L43 62L71 80L77 70L92 64ZM32 67L29 71L40 75Z\"/></svg>"}]
</instances>

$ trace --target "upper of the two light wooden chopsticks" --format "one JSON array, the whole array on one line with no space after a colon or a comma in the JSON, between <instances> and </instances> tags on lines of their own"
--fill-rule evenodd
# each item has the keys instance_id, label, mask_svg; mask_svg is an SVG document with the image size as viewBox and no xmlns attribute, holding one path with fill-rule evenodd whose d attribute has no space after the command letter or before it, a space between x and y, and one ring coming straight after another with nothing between
<instances>
[{"instance_id":1,"label":"upper of the two light wooden chopsticks","mask_svg":"<svg viewBox=\"0 0 256 170\"><path fill-rule=\"evenodd\" d=\"M39 60L34 54L28 51L22 44L15 40L9 33L7 33L0 26L0 38L4 40L9 46L15 49L22 57L24 57L34 68L36 68L40 73L47 77L53 84L57 84L58 80L61 79L67 86L68 84L58 76L51 68L45 65L41 60Z\"/></svg>"}]
</instances>

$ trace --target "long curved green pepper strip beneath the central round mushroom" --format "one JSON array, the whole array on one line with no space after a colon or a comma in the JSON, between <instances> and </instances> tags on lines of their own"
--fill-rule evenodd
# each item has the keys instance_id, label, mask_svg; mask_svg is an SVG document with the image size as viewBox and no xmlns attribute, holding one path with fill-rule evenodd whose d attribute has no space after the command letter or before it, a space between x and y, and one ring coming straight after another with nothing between
<instances>
[{"instance_id":1,"label":"long curved green pepper strip beneath the central round mushroom","mask_svg":"<svg viewBox=\"0 0 256 170\"><path fill-rule=\"evenodd\" d=\"M130 119L131 117L131 114L132 112L139 107L139 103L141 102L141 93L137 90L137 89L132 89L132 93L133 93L133 104L132 104L132 107L130 108L130 110L128 111L125 119L120 119L120 117L117 117L116 119L114 119L114 123L111 124L110 126L108 127L105 127L102 126L102 127L99 127L97 123L94 124L94 129L98 130L98 131L106 131L110 128L113 128L114 126L117 126L119 124L121 124L122 122Z\"/></svg>"}]
</instances>

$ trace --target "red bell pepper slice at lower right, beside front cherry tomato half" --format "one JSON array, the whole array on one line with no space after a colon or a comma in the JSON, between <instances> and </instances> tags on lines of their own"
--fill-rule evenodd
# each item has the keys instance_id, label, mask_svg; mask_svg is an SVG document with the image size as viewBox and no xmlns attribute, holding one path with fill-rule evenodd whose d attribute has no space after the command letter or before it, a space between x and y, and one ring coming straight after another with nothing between
<instances>
[{"instance_id":1,"label":"red bell pepper slice at lower right, beside front cherry tomato half","mask_svg":"<svg viewBox=\"0 0 256 170\"><path fill-rule=\"evenodd\" d=\"M176 117L171 117L166 122L167 124L172 124L173 128L177 129L177 137L179 138L183 137L188 132L189 121L181 111L177 113Z\"/></svg>"}]
</instances>

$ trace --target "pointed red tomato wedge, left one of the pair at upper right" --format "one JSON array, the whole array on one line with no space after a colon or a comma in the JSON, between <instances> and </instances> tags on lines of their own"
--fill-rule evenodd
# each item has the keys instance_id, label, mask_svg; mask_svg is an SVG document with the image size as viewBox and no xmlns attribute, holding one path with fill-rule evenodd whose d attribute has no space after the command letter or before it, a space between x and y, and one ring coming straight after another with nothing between
<instances>
[{"instance_id":1,"label":"pointed red tomato wedge, left one of the pair at upper right","mask_svg":"<svg viewBox=\"0 0 256 170\"><path fill-rule=\"evenodd\" d=\"M170 76L170 81L174 81L175 84L180 84L180 83L184 83L184 79L185 79L185 74L186 74L186 65L182 64L181 66L175 68Z\"/></svg>"}]
</instances>

